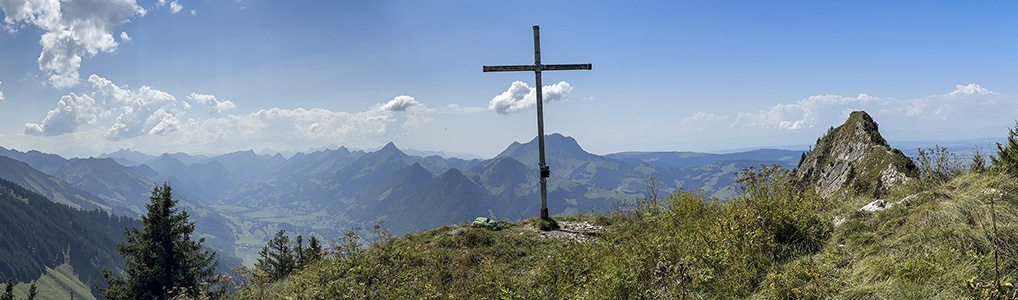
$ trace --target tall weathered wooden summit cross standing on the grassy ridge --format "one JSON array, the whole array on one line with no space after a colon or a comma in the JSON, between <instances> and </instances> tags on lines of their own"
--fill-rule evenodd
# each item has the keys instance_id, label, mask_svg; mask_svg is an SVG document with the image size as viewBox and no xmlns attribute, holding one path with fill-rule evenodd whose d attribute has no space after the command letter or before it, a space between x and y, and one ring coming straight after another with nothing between
<instances>
[{"instance_id":1,"label":"tall weathered wooden summit cross standing on the grassy ridge","mask_svg":"<svg viewBox=\"0 0 1018 300\"><path fill-rule=\"evenodd\" d=\"M551 176L551 168L545 164L545 110L542 103L541 85L542 71L564 71L564 70L589 70L590 64L541 64L541 26L533 25L533 64L532 65L503 65L485 66L485 72L511 72L511 71L533 71L538 85L538 148L541 162L541 218L548 219L548 177Z\"/></svg>"}]
</instances>

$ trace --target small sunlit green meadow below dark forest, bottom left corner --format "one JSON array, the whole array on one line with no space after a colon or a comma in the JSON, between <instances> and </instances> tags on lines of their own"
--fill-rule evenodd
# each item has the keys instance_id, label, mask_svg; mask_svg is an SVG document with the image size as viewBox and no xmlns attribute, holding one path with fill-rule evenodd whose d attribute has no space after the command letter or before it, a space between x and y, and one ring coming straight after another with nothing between
<instances>
[{"instance_id":1,"label":"small sunlit green meadow below dark forest, bottom left corner","mask_svg":"<svg viewBox=\"0 0 1018 300\"><path fill-rule=\"evenodd\" d=\"M15 298L23 299L29 295L31 283L20 283L14 286ZM70 263L58 265L56 268L46 268L38 280L36 280L36 290L39 300L66 300L70 299L68 292L74 293L74 299L95 300L92 296L92 287L86 286L77 279L74 268Z\"/></svg>"}]
</instances>

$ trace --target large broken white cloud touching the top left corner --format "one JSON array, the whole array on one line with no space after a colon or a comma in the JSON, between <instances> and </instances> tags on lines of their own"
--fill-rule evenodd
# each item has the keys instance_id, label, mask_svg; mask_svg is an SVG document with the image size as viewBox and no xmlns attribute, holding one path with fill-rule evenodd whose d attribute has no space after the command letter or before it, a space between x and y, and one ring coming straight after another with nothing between
<instances>
[{"instance_id":1,"label":"large broken white cloud touching the top left corner","mask_svg":"<svg viewBox=\"0 0 1018 300\"><path fill-rule=\"evenodd\" d=\"M135 0L0 1L0 9L8 32L29 25L42 29L39 69L56 87L77 84L82 57L113 52L113 28L146 13Z\"/></svg>"}]
</instances>

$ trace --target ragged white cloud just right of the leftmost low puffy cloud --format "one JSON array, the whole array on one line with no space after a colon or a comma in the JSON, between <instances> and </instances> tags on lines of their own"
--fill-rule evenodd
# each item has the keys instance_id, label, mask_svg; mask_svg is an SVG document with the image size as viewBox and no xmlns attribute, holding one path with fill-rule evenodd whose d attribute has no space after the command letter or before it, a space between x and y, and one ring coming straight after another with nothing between
<instances>
[{"instance_id":1,"label":"ragged white cloud just right of the leftmost low puffy cloud","mask_svg":"<svg viewBox=\"0 0 1018 300\"><path fill-rule=\"evenodd\" d=\"M113 84L96 74L89 76L96 89L103 95L104 115L119 114L116 123L106 131L106 138L120 140L144 134L166 134L179 126L177 100L172 95L142 86L130 91Z\"/></svg>"}]
</instances>

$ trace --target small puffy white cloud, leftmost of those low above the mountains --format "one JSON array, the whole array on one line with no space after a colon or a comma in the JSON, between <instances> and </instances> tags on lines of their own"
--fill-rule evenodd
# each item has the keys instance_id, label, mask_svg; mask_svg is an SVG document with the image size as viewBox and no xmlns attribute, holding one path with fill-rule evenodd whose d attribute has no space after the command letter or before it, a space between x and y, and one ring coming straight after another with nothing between
<instances>
[{"instance_id":1,"label":"small puffy white cloud, leftmost of those low above the mountains","mask_svg":"<svg viewBox=\"0 0 1018 300\"><path fill-rule=\"evenodd\" d=\"M53 136L71 133L83 124L96 122L96 101L88 95L73 93L60 98L57 108L46 113L42 124L25 123L24 133Z\"/></svg>"}]
</instances>

